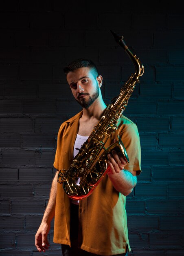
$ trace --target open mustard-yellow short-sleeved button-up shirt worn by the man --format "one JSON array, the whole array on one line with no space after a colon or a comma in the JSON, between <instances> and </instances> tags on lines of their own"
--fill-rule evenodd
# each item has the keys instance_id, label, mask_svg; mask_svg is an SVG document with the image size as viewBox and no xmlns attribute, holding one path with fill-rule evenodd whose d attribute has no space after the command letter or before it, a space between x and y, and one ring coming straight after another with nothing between
<instances>
[{"instance_id":1,"label":"open mustard-yellow short-sleeved button-up shirt worn by the man","mask_svg":"<svg viewBox=\"0 0 184 256\"><path fill-rule=\"evenodd\" d=\"M73 159L74 142L77 136L82 111L61 124L57 138L54 167L68 170ZM118 130L108 138L110 146L119 135L126 148L129 163L126 170L137 171L140 167L140 140L136 124L122 116ZM108 175L105 175L92 194L79 202L79 247L99 255L114 255L126 252L128 245L126 197L116 191ZM57 184L54 223L54 243L70 245L70 198L62 184Z\"/></svg>"}]
</instances>

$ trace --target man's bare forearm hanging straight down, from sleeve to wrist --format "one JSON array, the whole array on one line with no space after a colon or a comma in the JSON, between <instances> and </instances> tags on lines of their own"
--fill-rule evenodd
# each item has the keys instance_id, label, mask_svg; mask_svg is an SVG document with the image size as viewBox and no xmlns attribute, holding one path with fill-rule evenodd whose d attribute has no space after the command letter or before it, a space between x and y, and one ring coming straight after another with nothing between
<instances>
[{"instance_id":1,"label":"man's bare forearm hanging straight down, from sleeve to wrist","mask_svg":"<svg viewBox=\"0 0 184 256\"><path fill-rule=\"evenodd\" d=\"M50 189L50 197L48 200L48 205L44 212L44 216L42 222L51 222L53 217L55 216L55 204L56 204L56 193L57 193L57 174L55 175L52 186Z\"/></svg>"}]
</instances>

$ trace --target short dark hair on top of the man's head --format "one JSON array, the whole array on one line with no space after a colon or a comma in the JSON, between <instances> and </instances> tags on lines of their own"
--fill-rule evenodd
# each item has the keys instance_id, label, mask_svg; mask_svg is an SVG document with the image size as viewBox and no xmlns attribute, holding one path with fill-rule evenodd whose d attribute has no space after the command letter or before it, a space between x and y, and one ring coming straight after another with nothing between
<instances>
[{"instance_id":1,"label":"short dark hair on top of the man's head","mask_svg":"<svg viewBox=\"0 0 184 256\"><path fill-rule=\"evenodd\" d=\"M99 76L98 70L96 68L96 65L93 61L85 59L85 58L78 58L77 60L74 60L68 64L68 66L64 67L64 73L67 75L69 72L72 72L74 70L77 70L81 67L90 67L94 70L95 76Z\"/></svg>"}]
</instances>

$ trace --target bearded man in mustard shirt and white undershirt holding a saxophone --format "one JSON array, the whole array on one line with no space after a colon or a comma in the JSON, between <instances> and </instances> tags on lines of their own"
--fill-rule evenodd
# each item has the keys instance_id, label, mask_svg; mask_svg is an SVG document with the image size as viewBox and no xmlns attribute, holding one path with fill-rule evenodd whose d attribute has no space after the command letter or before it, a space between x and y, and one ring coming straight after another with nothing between
<instances>
[{"instance_id":1,"label":"bearded man in mustard shirt and white undershirt holding a saxophone","mask_svg":"<svg viewBox=\"0 0 184 256\"><path fill-rule=\"evenodd\" d=\"M74 99L83 110L59 129L54 162L57 170L68 170L106 108L101 94L103 79L92 61L78 59L64 68L64 72ZM136 175L141 172L140 141L137 126L125 116L118 120L118 129L107 140L106 148L117 135L123 141L130 162L115 150L108 154L110 171L87 198L80 202L71 200L57 182L56 172L48 206L35 235L39 252L49 247L47 234L55 216L53 240L61 244L63 256L128 255L131 249L125 201L136 186Z\"/></svg>"}]
</instances>

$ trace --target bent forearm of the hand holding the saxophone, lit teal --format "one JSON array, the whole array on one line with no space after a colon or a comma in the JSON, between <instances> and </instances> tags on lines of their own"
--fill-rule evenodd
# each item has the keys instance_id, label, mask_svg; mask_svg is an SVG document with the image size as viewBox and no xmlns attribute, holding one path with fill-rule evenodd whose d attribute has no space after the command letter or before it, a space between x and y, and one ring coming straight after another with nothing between
<instances>
[{"instance_id":1,"label":"bent forearm of the hand holding the saxophone, lit teal","mask_svg":"<svg viewBox=\"0 0 184 256\"><path fill-rule=\"evenodd\" d=\"M123 195L129 195L137 183L137 177L123 169L119 173L108 173L114 188Z\"/></svg>"}]
</instances>

